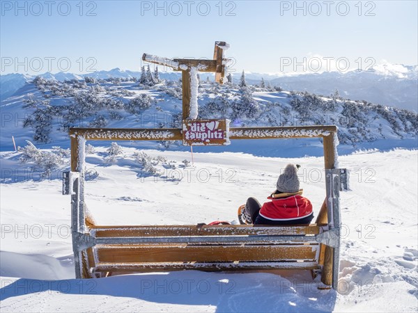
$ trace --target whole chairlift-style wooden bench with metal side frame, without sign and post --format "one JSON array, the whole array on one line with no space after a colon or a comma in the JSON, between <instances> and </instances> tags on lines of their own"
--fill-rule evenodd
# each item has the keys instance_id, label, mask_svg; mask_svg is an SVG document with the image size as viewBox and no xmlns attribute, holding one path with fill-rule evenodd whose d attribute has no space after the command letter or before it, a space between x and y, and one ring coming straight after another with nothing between
<instances>
[{"instance_id":1,"label":"whole chairlift-style wooden bench with metal side frame, without sign and post","mask_svg":"<svg viewBox=\"0 0 418 313\"><path fill-rule=\"evenodd\" d=\"M339 191L344 170L335 168L336 127L231 128L231 139L323 138L326 198L312 225L98 226L85 217L86 140L181 140L181 129L71 128L72 246L77 278L111 273L309 269L336 289L339 273ZM152 136L151 136L152 135Z\"/></svg>"}]
</instances>

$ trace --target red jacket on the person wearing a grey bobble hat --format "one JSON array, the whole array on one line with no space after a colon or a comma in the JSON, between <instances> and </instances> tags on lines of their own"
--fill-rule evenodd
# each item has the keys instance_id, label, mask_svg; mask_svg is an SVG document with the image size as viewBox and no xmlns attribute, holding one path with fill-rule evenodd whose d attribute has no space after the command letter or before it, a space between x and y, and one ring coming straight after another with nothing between
<instances>
[{"instance_id":1,"label":"red jacket on the person wearing a grey bobble hat","mask_svg":"<svg viewBox=\"0 0 418 313\"><path fill-rule=\"evenodd\" d=\"M272 198L269 198L272 199ZM258 213L268 220L296 220L312 214L312 204L302 195L272 199L265 202Z\"/></svg>"}]
</instances>

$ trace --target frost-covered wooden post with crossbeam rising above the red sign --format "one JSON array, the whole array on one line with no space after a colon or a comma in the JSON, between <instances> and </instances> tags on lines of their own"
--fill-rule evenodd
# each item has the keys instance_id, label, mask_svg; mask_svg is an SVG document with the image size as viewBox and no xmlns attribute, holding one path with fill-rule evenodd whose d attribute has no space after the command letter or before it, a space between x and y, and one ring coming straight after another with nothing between
<instances>
[{"instance_id":1,"label":"frost-covered wooden post with crossbeam rising above the red sign","mask_svg":"<svg viewBox=\"0 0 418 313\"><path fill-rule=\"evenodd\" d=\"M229 47L224 41L215 42L213 60L194 58L161 58L151 54L144 54L142 60L150 63L160 64L181 71L183 90L183 120L197 118L197 88L199 85L197 73L215 72L215 81L224 83L225 64L224 50Z\"/></svg>"}]
</instances>

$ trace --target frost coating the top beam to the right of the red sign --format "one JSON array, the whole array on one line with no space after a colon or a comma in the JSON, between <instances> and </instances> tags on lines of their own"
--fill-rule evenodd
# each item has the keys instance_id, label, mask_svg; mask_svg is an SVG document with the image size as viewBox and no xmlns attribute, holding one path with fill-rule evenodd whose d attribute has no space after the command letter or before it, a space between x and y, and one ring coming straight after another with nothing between
<instances>
[{"instance_id":1,"label":"frost coating the top beam to the right of the red sign","mask_svg":"<svg viewBox=\"0 0 418 313\"><path fill-rule=\"evenodd\" d=\"M328 136L329 131L320 129L240 129L230 130L231 137L249 138L293 138L293 137L322 137Z\"/></svg>"}]
</instances>

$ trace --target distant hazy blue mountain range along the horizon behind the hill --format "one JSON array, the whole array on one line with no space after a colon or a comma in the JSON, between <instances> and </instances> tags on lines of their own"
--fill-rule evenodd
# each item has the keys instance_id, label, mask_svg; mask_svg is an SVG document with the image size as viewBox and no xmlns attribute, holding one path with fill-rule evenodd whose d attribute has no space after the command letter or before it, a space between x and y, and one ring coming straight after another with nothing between
<instances>
[{"instance_id":1,"label":"distant hazy blue mountain range along the horizon behind the hill","mask_svg":"<svg viewBox=\"0 0 418 313\"><path fill-rule=\"evenodd\" d=\"M400 109L418 111L418 65L392 65L385 63L374 67L373 72L323 72L304 74L262 74L246 73L248 83L258 84L263 78L271 86L280 86L284 90L308 91L319 95L330 95L339 90L340 95L353 100L366 100L376 104L395 106ZM232 72L233 79L238 82L241 73ZM140 77L141 72L114 68L109 71L91 72L88 74L72 74L59 72L40 74L45 79L65 81L70 79L109 79L110 77L130 79ZM13 95L24 83L33 80L36 75L6 74L0 76L1 99ZM176 80L181 77L179 72L160 72L162 79ZM212 73L201 74L202 79L213 78Z\"/></svg>"}]
</instances>

